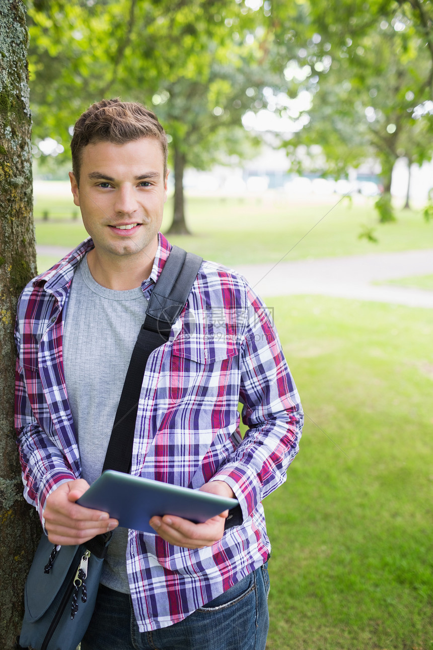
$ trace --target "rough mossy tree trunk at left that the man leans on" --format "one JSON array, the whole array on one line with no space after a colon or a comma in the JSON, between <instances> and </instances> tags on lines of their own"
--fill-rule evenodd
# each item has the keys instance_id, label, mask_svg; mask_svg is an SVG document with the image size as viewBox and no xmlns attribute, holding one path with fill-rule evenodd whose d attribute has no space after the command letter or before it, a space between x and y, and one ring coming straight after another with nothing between
<instances>
[{"instance_id":1,"label":"rough mossy tree trunk at left that the man leans on","mask_svg":"<svg viewBox=\"0 0 433 650\"><path fill-rule=\"evenodd\" d=\"M40 536L23 499L14 434L14 320L19 292L36 274L32 222L27 28L20 0L0 0L0 647L14 647L23 585Z\"/></svg>"}]
</instances>

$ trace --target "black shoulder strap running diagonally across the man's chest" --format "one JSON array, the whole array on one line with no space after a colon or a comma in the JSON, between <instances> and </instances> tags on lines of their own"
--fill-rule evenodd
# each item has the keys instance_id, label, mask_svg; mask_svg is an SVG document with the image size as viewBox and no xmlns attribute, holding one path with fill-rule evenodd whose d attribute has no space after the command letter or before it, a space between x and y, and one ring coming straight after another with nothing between
<instances>
[{"instance_id":1,"label":"black shoulder strap running diagonally across the man's chest","mask_svg":"<svg viewBox=\"0 0 433 650\"><path fill-rule=\"evenodd\" d=\"M106 450L103 471L116 469L128 473L132 459L138 401L147 359L153 350L166 343L171 326L184 308L203 261L194 253L173 246L153 287L146 317L129 362L129 368Z\"/></svg>"}]
</instances>

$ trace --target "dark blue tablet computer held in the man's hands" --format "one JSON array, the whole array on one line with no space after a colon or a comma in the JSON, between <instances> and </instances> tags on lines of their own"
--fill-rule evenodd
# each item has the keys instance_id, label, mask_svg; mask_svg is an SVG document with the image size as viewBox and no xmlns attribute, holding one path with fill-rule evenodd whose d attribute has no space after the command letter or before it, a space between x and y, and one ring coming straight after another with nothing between
<instances>
[{"instance_id":1,"label":"dark blue tablet computer held in the man's hands","mask_svg":"<svg viewBox=\"0 0 433 650\"><path fill-rule=\"evenodd\" d=\"M198 523L238 506L236 499L112 469L101 474L77 503L108 512L110 517L118 519L119 526L154 535L155 530L149 526L149 519L154 515L177 515Z\"/></svg>"}]
</instances>

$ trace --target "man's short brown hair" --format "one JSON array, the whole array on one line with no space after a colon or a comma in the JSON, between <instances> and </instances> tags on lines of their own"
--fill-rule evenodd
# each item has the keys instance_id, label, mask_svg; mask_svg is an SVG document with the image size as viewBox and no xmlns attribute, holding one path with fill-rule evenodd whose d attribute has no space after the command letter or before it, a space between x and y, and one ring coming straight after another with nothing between
<instances>
[{"instance_id":1,"label":"man's short brown hair","mask_svg":"<svg viewBox=\"0 0 433 650\"><path fill-rule=\"evenodd\" d=\"M164 159L167 175L167 136L151 110L136 101L102 99L92 104L77 120L71 140L72 171L80 181L81 152L91 142L125 144L140 138L155 138Z\"/></svg>"}]
</instances>

